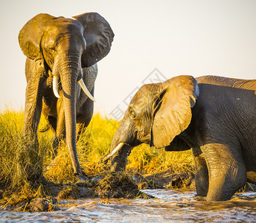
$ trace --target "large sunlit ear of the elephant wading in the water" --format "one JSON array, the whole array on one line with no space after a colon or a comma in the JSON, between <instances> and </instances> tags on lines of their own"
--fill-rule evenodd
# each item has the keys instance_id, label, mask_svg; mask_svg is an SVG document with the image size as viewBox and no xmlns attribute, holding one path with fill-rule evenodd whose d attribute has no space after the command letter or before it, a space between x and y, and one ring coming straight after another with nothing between
<instances>
[{"instance_id":1,"label":"large sunlit ear of the elephant wading in the water","mask_svg":"<svg viewBox=\"0 0 256 223\"><path fill-rule=\"evenodd\" d=\"M160 93L163 96L160 96L151 132L151 143L156 148L169 146L176 135L188 128L199 86L191 76L173 77L161 84Z\"/></svg>"}]
</instances>

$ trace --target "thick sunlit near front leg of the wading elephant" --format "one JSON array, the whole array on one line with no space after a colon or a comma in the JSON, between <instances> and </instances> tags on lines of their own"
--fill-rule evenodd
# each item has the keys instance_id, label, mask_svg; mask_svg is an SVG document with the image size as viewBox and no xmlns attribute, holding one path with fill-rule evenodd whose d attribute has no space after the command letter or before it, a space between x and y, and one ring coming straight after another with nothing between
<instances>
[{"instance_id":1,"label":"thick sunlit near front leg of the wading elephant","mask_svg":"<svg viewBox=\"0 0 256 223\"><path fill-rule=\"evenodd\" d=\"M246 183L246 167L240 146L210 143L202 146L208 164L207 201L224 201Z\"/></svg>"}]
</instances>

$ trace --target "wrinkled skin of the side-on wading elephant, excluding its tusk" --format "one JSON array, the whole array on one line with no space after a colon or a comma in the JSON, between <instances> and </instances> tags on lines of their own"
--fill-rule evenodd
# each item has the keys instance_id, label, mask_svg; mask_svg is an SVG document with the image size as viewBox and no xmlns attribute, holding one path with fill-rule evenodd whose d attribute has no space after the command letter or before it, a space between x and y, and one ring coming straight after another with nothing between
<instances>
[{"instance_id":1,"label":"wrinkled skin of the side-on wading elephant, excluding its tusk","mask_svg":"<svg viewBox=\"0 0 256 223\"><path fill-rule=\"evenodd\" d=\"M173 77L142 86L112 140L112 170L125 169L134 146L166 151L191 149L197 195L228 200L245 183L256 183L256 80ZM247 173L247 176L246 176Z\"/></svg>"}]
</instances>

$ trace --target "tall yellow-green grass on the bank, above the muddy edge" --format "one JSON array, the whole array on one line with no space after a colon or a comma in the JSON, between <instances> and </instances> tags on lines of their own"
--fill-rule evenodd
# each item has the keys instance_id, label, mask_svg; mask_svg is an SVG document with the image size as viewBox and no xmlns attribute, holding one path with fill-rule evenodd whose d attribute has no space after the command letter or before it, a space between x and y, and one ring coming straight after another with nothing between
<instances>
[{"instance_id":1,"label":"tall yellow-green grass on the bank, above the muddy edge","mask_svg":"<svg viewBox=\"0 0 256 223\"><path fill-rule=\"evenodd\" d=\"M54 183L74 182L76 179L65 143L60 146L54 165L48 167L51 164L53 134L51 130L39 132L39 147L34 146L33 140L27 141L22 137L23 117L23 111L8 109L0 114L0 184L12 190L28 190L28 187L35 187L33 178L39 175ZM80 166L87 175L103 174L104 168L97 163L109 152L119 124L100 114L92 117L91 123L77 141ZM42 117L39 129L45 125ZM153 174L167 169L173 172L193 172L191 151L165 152L164 149L150 148L143 144L132 149L128 158L128 172ZM38 190L39 187L35 187L34 193L38 194Z\"/></svg>"}]
</instances>

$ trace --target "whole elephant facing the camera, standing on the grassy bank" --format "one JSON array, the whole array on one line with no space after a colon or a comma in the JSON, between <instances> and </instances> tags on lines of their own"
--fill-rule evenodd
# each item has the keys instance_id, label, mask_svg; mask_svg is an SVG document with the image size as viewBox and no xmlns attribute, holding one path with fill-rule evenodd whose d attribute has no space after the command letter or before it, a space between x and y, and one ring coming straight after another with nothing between
<instances>
[{"instance_id":1,"label":"whole elephant facing the camera, standing on the grassy bank","mask_svg":"<svg viewBox=\"0 0 256 223\"><path fill-rule=\"evenodd\" d=\"M92 118L97 62L109 54L113 39L112 28L98 13L73 19L40 13L19 32L19 45L27 56L23 135L38 147L43 113L55 132L53 146L66 140L74 175L83 175L76 128L88 126Z\"/></svg>"}]
</instances>

